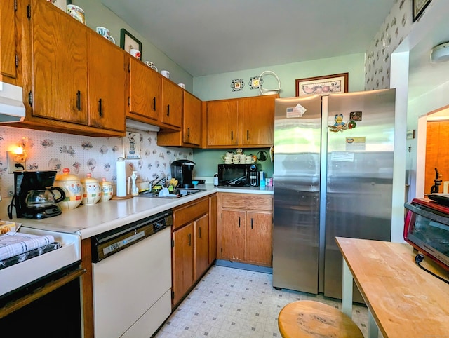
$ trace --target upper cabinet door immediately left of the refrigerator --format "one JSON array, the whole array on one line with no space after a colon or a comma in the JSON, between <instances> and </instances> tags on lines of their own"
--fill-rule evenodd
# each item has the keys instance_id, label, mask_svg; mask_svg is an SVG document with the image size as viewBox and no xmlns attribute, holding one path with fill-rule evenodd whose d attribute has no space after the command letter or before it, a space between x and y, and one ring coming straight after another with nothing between
<instances>
[{"instance_id":1,"label":"upper cabinet door immediately left of the refrigerator","mask_svg":"<svg viewBox=\"0 0 449 338\"><path fill-rule=\"evenodd\" d=\"M246 97L242 99L241 144L272 144L274 135L274 96Z\"/></svg>"}]
</instances>

